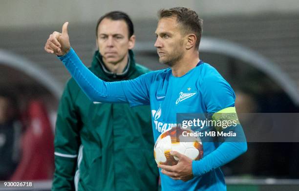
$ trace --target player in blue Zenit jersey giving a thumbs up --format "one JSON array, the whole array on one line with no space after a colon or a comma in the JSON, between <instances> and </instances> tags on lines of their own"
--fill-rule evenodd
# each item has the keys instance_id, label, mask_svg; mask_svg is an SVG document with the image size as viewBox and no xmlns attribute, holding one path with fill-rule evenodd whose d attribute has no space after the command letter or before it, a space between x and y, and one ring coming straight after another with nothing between
<instances>
[{"instance_id":1,"label":"player in blue Zenit jersey giving a thumbs up","mask_svg":"<svg viewBox=\"0 0 299 191\"><path fill-rule=\"evenodd\" d=\"M235 93L231 86L211 65L199 59L198 46L202 34L202 20L196 12L185 7L162 9L156 29L155 47L160 63L170 68L149 72L134 80L107 83L98 79L81 62L70 47L67 22L57 39L50 39L45 49L60 55L76 82L92 101L129 103L130 106L150 105L160 110L152 121L162 124L176 123L176 113L235 113ZM180 95L192 96L180 99ZM171 126L163 126L171 127ZM168 129L157 128L152 123L154 140ZM218 128L219 129L219 128ZM203 143L204 156L192 161L176 151L179 159L175 166L158 165L163 191L223 191L226 190L220 167L247 150L242 128L223 128L235 131L242 141L224 139L217 144Z\"/></svg>"}]
</instances>

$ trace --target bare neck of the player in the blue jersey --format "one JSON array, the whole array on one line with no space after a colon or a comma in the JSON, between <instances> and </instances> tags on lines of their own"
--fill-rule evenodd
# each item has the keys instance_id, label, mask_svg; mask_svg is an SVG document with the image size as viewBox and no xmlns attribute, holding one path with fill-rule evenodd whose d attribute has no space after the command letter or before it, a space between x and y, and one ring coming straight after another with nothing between
<instances>
[{"instance_id":1,"label":"bare neck of the player in the blue jersey","mask_svg":"<svg viewBox=\"0 0 299 191\"><path fill-rule=\"evenodd\" d=\"M198 50L195 51L196 52L192 52L192 54L185 54L182 59L171 66L173 76L181 77L198 64L199 53Z\"/></svg>"}]
</instances>

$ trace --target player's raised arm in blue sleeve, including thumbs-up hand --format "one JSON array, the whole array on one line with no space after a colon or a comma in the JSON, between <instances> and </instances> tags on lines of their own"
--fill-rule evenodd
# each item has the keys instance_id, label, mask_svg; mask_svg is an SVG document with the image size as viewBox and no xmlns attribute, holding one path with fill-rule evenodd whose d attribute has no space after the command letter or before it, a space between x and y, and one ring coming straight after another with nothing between
<instances>
[{"instance_id":1,"label":"player's raised arm in blue sleeve, including thumbs-up hand","mask_svg":"<svg viewBox=\"0 0 299 191\"><path fill-rule=\"evenodd\" d=\"M145 75L134 80L122 82L102 81L86 68L75 51L70 47L67 25L68 22L65 22L62 33L53 32L50 35L44 49L48 53L59 56L59 59L64 63L91 101L106 103L128 102L132 106L149 104Z\"/></svg>"}]
</instances>

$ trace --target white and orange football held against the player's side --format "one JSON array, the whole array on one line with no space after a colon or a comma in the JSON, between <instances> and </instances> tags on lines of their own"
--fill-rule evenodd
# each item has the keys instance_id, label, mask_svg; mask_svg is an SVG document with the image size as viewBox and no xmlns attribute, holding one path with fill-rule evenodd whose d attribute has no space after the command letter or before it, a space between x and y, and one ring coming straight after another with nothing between
<instances>
[{"instance_id":1,"label":"white and orange football held against the player's side","mask_svg":"<svg viewBox=\"0 0 299 191\"><path fill-rule=\"evenodd\" d=\"M188 132L194 133L190 129L172 127L158 137L154 147L154 157L158 165L173 166L178 163L178 158L170 154L171 150L184 154L192 160L200 160L203 157L203 147L200 138L183 136L183 134L186 135Z\"/></svg>"}]
</instances>

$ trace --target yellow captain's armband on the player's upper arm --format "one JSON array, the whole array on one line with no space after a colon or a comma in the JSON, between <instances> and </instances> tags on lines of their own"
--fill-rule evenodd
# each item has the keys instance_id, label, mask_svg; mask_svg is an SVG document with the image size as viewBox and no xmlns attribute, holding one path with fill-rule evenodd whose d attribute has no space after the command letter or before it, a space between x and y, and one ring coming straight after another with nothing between
<instances>
[{"instance_id":1,"label":"yellow captain's armband on the player's upper arm","mask_svg":"<svg viewBox=\"0 0 299 191\"><path fill-rule=\"evenodd\" d=\"M212 115L213 126L217 131L240 124L235 107L227 107Z\"/></svg>"}]
</instances>

